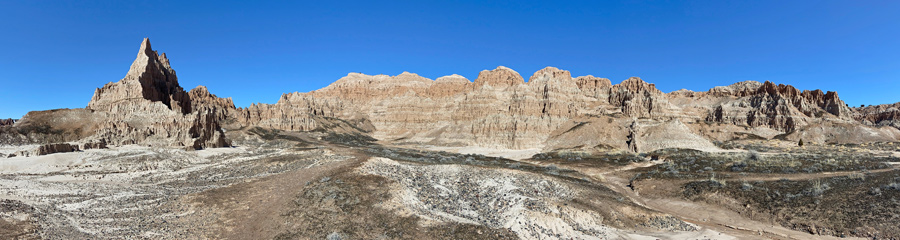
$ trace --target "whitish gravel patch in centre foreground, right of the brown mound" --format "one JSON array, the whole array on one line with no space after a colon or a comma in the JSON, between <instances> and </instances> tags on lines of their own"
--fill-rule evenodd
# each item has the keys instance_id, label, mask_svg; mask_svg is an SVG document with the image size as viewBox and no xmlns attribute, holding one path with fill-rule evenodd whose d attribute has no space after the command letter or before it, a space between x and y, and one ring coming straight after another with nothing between
<instances>
[{"instance_id":1,"label":"whitish gravel patch in centre foreground, right of the brown mound","mask_svg":"<svg viewBox=\"0 0 900 240\"><path fill-rule=\"evenodd\" d=\"M505 228L522 239L613 239L623 232L603 214L572 203L579 186L556 178L509 169L465 165L422 165L374 158L362 174L395 182L393 199L382 207L409 212L433 223L458 222ZM636 211L639 212L639 211ZM643 227L694 230L672 217L652 217Z\"/></svg>"}]
</instances>

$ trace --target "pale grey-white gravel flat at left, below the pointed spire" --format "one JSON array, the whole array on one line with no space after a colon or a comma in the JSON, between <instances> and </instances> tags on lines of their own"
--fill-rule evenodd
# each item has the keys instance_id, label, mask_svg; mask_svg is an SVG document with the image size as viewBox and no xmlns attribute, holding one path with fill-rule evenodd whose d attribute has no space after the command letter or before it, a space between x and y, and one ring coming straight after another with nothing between
<instances>
[{"instance_id":1,"label":"pale grey-white gravel flat at left, below the pointed spire","mask_svg":"<svg viewBox=\"0 0 900 240\"><path fill-rule=\"evenodd\" d=\"M41 239L194 239L210 231L216 216L195 214L195 206L180 197L343 159L324 149L245 143L202 151L129 146L41 156L52 158L42 168L51 171L17 165L39 157L3 159L0 199L33 209L40 231L32 235Z\"/></svg>"}]
</instances>

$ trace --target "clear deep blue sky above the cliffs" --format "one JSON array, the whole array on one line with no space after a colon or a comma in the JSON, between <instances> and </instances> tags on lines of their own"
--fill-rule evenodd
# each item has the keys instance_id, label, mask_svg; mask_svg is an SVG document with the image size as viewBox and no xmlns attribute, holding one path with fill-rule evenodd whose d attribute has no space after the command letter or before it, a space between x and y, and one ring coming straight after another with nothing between
<instances>
[{"instance_id":1,"label":"clear deep blue sky above the cliffs","mask_svg":"<svg viewBox=\"0 0 900 240\"><path fill-rule=\"evenodd\" d=\"M771 80L900 101L900 1L0 0L0 118L81 108L142 38L238 107L349 72L474 80L545 66L670 92Z\"/></svg>"}]
</instances>

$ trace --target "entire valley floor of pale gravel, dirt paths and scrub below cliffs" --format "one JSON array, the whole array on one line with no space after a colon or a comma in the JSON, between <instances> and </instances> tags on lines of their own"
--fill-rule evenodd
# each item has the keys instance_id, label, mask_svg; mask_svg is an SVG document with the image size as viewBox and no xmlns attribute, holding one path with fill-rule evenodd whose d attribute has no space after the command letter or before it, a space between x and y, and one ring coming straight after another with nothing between
<instances>
[{"instance_id":1,"label":"entire valley floor of pale gravel, dirt paths and scrub below cliffs","mask_svg":"<svg viewBox=\"0 0 900 240\"><path fill-rule=\"evenodd\" d=\"M229 134L0 159L0 239L900 237L893 145L529 157Z\"/></svg>"}]
</instances>

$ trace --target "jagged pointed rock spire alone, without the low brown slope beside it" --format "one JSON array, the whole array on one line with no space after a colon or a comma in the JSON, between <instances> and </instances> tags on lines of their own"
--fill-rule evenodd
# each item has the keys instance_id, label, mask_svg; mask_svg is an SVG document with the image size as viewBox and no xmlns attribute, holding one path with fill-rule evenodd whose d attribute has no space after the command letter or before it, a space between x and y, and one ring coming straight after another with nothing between
<instances>
[{"instance_id":1,"label":"jagged pointed rock spire alone, without the low brown slope beside it","mask_svg":"<svg viewBox=\"0 0 900 240\"><path fill-rule=\"evenodd\" d=\"M115 145L175 145L196 149L228 146L221 123L233 109L200 86L190 93L178 84L165 53L144 39L122 80L94 92L87 109L105 116L94 138Z\"/></svg>"}]
</instances>

